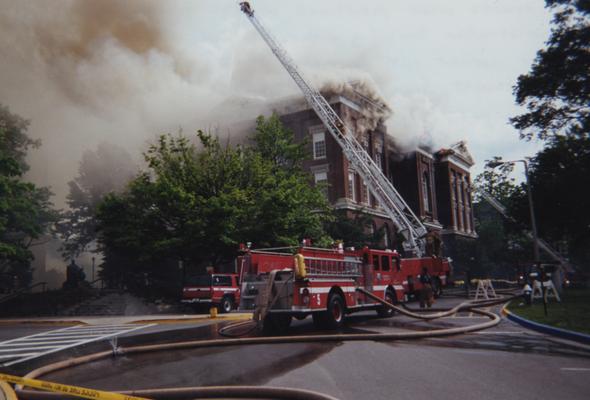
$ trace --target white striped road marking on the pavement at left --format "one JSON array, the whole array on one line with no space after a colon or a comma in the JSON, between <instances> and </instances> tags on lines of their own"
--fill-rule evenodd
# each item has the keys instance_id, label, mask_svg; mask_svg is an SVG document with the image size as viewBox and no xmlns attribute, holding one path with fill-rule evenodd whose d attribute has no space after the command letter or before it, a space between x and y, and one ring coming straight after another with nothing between
<instances>
[{"instance_id":1,"label":"white striped road marking on the pavement at left","mask_svg":"<svg viewBox=\"0 0 590 400\"><path fill-rule=\"evenodd\" d=\"M109 339L154 325L156 324L77 325L6 340L0 342L0 360L6 360L6 362L0 363L0 365L7 367L46 354L55 353L90 342L96 342L98 340ZM27 352L23 353L23 351Z\"/></svg>"}]
</instances>

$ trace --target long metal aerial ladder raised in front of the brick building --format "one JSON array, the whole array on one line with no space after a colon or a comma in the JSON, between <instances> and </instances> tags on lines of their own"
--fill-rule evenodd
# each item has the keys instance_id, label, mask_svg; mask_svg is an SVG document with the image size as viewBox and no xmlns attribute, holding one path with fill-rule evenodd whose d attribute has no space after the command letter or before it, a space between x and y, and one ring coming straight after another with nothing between
<instances>
[{"instance_id":1,"label":"long metal aerial ladder raised in front of the brick building","mask_svg":"<svg viewBox=\"0 0 590 400\"><path fill-rule=\"evenodd\" d=\"M370 192L375 196L391 221L393 221L396 229L404 236L404 250L414 256L422 256L424 253L424 236L427 234L426 227L422 224L422 221L416 217L408 204L383 174L381 168L357 141L352 130L344 124L324 96L306 82L286 51L256 18L250 4L246 1L241 2L240 8L289 75L291 75L291 78L293 78L303 93L309 106L315 111L334 140L340 145L352 169L361 176L365 185L367 185Z\"/></svg>"}]
</instances>

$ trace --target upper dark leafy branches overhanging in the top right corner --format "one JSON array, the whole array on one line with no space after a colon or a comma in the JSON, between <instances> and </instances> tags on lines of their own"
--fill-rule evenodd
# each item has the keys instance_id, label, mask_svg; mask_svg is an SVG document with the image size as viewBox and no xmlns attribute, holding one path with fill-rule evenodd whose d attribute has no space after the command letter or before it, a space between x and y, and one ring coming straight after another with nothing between
<instances>
[{"instance_id":1,"label":"upper dark leafy branches overhanging in the top right corner","mask_svg":"<svg viewBox=\"0 0 590 400\"><path fill-rule=\"evenodd\" d=\"M527 112L511 119L521 138L588 138L590 132L590 2L546 0L555 11L547 47L514 87Z\"/></svg>"}]
</instances>

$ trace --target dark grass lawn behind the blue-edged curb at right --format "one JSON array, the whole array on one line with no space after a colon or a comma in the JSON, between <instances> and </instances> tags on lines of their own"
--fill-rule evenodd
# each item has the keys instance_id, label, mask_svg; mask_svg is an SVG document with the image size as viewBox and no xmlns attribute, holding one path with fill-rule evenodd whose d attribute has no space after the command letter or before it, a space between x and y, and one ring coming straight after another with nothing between
<instances>
[{"instance_id":1,"label":"dark grass lawn behind the blue-edged curb at right","mask_svg":"<svg viewBox=\"0 0 590 400\"><path fill-rule=\"evenodd\" d=\"M535 299L532 306L527 306L523 300L513 300L508 309L541 324L590 334L590 289L566 289L561 303L549 298L546 317L541 299Z\"/></svg>"}]
</instances>

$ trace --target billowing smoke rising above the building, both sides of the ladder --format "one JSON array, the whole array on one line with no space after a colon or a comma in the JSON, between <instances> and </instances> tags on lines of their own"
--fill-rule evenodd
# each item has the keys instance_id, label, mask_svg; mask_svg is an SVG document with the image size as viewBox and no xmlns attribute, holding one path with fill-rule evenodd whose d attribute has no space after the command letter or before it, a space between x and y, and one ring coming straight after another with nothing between
<instances>
[{"instance_id":1,"label":"billowing smoke rising above the building, both sides of the ladder","mask_svg":"<svg viewBox=\"0 0 590 400\"><path fill-rule=\"evenodd\" d=\"M392 101L391 74L365 57L367 49L330 53L327 45L281 41L316 86L346 93L353 88L343 82L356 80L354 90L379 103L360 121L366 127L387 120L389 103L400 148L428 134L428 107L422 99ZM60 207L82 154L99 143L122 146L140 162L157 134L202 128L235 137L251 127L236 121L298 94L232 2L0 0L0 59L0 103L32 121L30 134L43 145L31 154L30 177L50 185ZM360 72L365 66L378 84Z\"/></svg>"}]
</instances>

